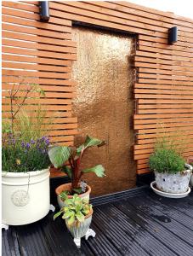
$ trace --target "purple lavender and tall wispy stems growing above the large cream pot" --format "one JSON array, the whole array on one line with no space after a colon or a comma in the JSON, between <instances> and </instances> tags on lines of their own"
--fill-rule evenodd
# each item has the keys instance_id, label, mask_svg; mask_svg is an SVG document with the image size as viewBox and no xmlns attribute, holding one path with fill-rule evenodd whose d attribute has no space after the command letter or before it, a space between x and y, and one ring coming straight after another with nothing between
<instances>
[{"instance_id":1,"label":"purple lavender and tall wispy stems growing above the large cream pot","mask_svg":"<svg viewBox=\"0 0 193 256\"><path fill-rule=\"evenodd\" d=\"M10 90L9 99L11 118L3 119L3 172L32 172L48 168L48 126L46 112L37 104L33 112L25 111L26 99L32 98L31 93L37 92L43 96L43 90L37 84L26 84L25 96L20 98L23 90L14 87ZM37 99L37 97L36 97ZM19 104L19 100L21 103ZM17 106L14 111L13 106Z\"/></svg>"}]
</instances>

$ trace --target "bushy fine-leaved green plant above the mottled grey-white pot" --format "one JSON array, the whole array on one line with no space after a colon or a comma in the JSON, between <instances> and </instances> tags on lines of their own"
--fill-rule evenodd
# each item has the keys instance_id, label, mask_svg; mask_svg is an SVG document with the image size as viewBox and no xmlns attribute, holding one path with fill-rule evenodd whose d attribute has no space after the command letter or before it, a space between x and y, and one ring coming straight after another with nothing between
<instances>
[{"instance_id":1,"label":"bushy fine-leaved green plant above the mottled grey-white pot","mask_svg":"<svg viewBox=\"0 0 193 256\"><path fill-rule=\"evenodd\" d=\"M150 155L149 166L154 172L177 173L184 171L185 160L171 141L165 138L156 143L154 153Z\"/></svg>"}]
</instances>

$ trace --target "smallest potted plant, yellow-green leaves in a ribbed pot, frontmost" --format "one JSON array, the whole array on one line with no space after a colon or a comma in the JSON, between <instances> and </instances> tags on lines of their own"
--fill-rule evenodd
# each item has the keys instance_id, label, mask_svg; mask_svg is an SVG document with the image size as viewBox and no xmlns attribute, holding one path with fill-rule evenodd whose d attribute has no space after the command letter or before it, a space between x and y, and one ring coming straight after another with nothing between
<instances>
[{"instance_id":1,"label":"smallest potted plant, yellow-green leaves in a ribbed pot, frontmost","mask_svg":"<svg viewBox=\"0 0 193 256\"><path fill-rule=\"evenodd\" d=\"M65 219L67 229L74 238L85 236L92 220L93 208L88 200L82 199L77 194L65 199L65 207L54 214L54 219L59 217Z\"/></svg>"}]
</instances>

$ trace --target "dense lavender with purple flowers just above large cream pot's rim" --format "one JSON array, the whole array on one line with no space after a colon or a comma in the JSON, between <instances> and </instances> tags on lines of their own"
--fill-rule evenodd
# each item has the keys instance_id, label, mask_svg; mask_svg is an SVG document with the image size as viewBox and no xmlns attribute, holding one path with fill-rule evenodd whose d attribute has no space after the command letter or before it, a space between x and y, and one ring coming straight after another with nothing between
<instances>
[{"instance_id":1,"label":"dense lavender with purple flowers just above large cream pot's rim","mask_svg":"<svg viewBox=\"0 0 193 256\"><path fill-rule=\"evenodd\" d=\"M48 168L48 146L48 137L26 142L9 134L8 139L3 138L3 172L32 172Z\"/></svg>"}]
</instances>

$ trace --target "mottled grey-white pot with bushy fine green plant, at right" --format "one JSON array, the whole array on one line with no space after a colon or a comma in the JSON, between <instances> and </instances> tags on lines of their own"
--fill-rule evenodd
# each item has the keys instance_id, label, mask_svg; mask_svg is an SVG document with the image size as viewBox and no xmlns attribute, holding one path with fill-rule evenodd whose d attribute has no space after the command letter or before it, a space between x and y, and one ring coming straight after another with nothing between
<instances>
[{"instance_id":1,"label":"mottled grey-white pot with bushy fine green plant, at right","mask_svg":"<svg viewBox=\"0 0 193 256\"><path fill-rule=\"evenodd\" d=\"M166 140L156 143L156 148L149 160L150 170L155 173L156 189L166 193L182 194L188 191L190 166L179 149Z\"/></svg>"}]
</instances>

